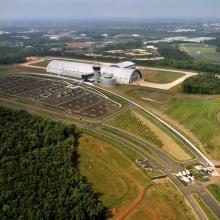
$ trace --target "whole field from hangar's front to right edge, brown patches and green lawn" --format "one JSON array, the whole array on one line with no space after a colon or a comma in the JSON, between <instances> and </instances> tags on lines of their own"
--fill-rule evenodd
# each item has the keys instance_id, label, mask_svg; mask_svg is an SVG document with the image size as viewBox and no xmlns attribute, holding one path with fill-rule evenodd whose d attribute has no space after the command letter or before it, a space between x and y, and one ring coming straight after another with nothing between
<instances>
[{"instance_id":1,"label":"whole field from hangar's front to right edge, brown patches and green lawn","mask_svg":"<svg viewBox=\"0 0 220 220\"><path fill-rule=\"evenodd\" d=\"M220 160L220 126L217 113L220 96L186 95L133 86L120 86L119 92L140 104L155 109L158 114L180 127L210 158ZM201 143L201 144L200 144Z\"/></svg>"}]
</instances>

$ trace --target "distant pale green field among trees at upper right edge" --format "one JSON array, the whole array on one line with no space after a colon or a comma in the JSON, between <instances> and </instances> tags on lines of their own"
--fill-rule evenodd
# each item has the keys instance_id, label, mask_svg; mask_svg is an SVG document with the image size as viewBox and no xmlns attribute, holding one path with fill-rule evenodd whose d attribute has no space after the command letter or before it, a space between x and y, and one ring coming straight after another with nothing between
<instances>
[{"instance_id":1,"label":"distant pale green field among trees at upper right edge","mask_svg":"<svg viewBox=\"0 0 220 220\"><path fill-rule=\"evenodd\" d=\"M220 53L216 52L216 47L208 44L181 44L180 50L188 53L197 60L220 63Z\"/></svg>"}]
</instances>

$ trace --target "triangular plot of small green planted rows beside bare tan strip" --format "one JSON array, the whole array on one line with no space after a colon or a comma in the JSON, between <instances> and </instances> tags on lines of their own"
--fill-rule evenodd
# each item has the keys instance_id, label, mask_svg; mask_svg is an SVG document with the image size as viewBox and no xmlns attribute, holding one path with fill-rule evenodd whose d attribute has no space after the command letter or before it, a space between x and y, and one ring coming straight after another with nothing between
<instances>
[{"instance_id":1,"label":"triangular plot of small green planted rows beside bare tan strip","mask_svg":"<svg viewBox=\"0 0 220 220\"><path fill-rule=\"evenodd\" d=\"M143 124L131 110L115 116L107 124L139 136L157 147L163 147L163 143L159 137L146 124Z\"/></svg>"}]
</instances>

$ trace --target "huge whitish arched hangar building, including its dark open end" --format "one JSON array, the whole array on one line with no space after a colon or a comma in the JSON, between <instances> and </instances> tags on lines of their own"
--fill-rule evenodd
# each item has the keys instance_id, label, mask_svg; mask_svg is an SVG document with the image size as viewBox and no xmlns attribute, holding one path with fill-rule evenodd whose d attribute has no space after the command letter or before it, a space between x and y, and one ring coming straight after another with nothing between
<instances>
[{"instance_id":1,"label":"huge whitish arched hangar building, including its dark open end","mask_svg":"<svg viewBox=\"0 0 220 220\"><path fill-rule=\"evenodd\" d=\"M134 66L132 66L134 67ZM88 63L69 62L53 60L47 66L47 72L60 76L87 80L94 77L94 65ZM137 69L123 68L120 66L100 66L100 74L111 74L118 84L131 84L141 78L141 73Z\"/></svg>"}]
</instances>

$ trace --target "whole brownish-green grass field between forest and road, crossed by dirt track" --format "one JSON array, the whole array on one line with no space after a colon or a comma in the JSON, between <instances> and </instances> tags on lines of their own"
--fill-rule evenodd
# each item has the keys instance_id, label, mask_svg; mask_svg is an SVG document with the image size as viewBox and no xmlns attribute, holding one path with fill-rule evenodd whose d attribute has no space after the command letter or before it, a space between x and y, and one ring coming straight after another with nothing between
<instances>
[{"instance_id":1,"label":"whole brownish-green grass field between forest and road, crossed by dirt track","mask_svg":"<svg viewBox=\"0 0 220 220\"><path fill-rule=\"evenodd\" d=\"M97 138L80 140L80 170L113 216L126 219L195 219L170 183L153 184L121 151Z\"/></svg>"}]
</instances>

